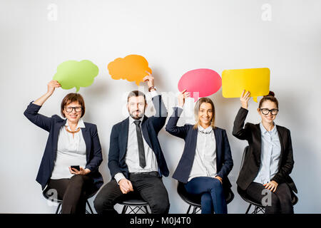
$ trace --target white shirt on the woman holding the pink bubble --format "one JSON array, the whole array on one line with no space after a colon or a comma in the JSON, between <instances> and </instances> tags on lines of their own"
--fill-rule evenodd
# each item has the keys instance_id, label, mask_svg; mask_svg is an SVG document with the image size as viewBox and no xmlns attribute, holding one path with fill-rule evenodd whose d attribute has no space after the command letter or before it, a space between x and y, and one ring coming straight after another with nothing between
<instances>
[{"instance_id":1,"label":"white shirt on the woman holding the pink bubble","mask_svg":"<svg viewBox=\"0 0 321 228\"><path fill-rule=\"evenodd\" d=\"M195 157L188 181L194 177L216 176L216 140L212 126L198 126Z\"/></svg>"}]
</instances>

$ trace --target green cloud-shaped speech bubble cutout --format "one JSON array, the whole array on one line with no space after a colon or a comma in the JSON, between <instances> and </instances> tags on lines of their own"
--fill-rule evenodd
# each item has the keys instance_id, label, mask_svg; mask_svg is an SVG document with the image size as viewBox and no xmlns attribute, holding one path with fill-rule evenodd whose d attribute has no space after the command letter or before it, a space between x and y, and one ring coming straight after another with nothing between
<instances>
[{"instance_id":1,"label":"green cloud-shaped speech bubble cutout","mask_svg":"<svg viewBox=\"0 0 321 228\"><path fill-rule=\"evenodd\" d=\"M61 84L61 88L69 90L73 87L76 92L80 87L91 86L93 79L98 75L98 66L91 61L65 61L57 67L54 80Z\"/></svg>"}]
</instances>

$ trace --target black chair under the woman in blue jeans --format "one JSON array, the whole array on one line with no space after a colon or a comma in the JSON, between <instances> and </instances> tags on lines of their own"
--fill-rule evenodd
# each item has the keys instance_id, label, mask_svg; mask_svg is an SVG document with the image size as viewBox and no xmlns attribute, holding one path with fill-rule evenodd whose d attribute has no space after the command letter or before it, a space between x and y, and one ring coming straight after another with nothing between
<instances>
[{"instance_id":1,"label":"black chair under the woman in blue jeans","mask_svg":"<svg viewBox=\"0 0 321 228\"><path fill-rule=\"evenodd\" d=\"M190 205L188 207L188 211L186 212L186 214L190 213L191 207L193 207L193 212L191 214L196 214L196 213L200 212L200 210L201 210L200 196L192 195L192 194L189 194L188 192L186 192L185 186L182 182L178 182L177 192L178 192L178 195L180 196L180 198L183 199L184 202L186 202L187 204ZM228 192L228 196L226 197L226 204L229 204L230 202L232 202L233 199L234 199L234 193L232 192L232 190L230 190L230 192Z\"/></svg>"}]
</instances>

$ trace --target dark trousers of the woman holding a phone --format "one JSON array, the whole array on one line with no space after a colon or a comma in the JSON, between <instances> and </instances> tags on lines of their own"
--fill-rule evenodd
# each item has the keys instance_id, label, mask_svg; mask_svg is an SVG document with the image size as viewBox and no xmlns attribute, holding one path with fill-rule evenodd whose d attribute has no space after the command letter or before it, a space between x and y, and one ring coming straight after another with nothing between
<instances>
[{"instance_id":1,"label":"dark trousers of the woman holding a phone","mask_svg":"<svg viewBox=\"0 0 321 228\"><path fill-rule=\"evenodd\" d=\"M62 214L86 214L86 200L95 192L93 179L86 175L73 175L73 177L58 180L49 180L49 189L58 193L62 199Z\"/></svg>"}]
</instances>

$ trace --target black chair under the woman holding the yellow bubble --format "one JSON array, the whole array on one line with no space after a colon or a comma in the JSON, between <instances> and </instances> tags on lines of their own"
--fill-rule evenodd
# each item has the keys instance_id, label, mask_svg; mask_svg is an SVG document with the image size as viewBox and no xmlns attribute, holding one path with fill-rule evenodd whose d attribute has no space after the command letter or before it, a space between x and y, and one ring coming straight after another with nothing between
<instances>
[{"instance_id":1,"label":"black chair under the woman holding the yellow bubble","mask_svg":"<svg viewBox=\"0 0 321 228\"><path fill-rule=\"evenodd\" d=\"M246 146L244 149L242 160L241 160L241 165L240 165L240 170L242 169L242 166L243 166L244 157L246 156L246 153L248 152L248 147L249 146ZM291 194L292 194L292 205L295 205L295 204L297 204L299 199L292 191L291 191ZM258 214L260 212L265 213L265 207L262 204L258 204L257 202L253 202L253 200L250 199L248 194L246 194L246 192L244 190L240 189L240 187L238 187L238 195L240 195L240 197L245 202L249 203L248 209L246 210L245 214L248 214L252 205L254 206L254 211L251 214Z\"/></svg>"}]
</instances>

